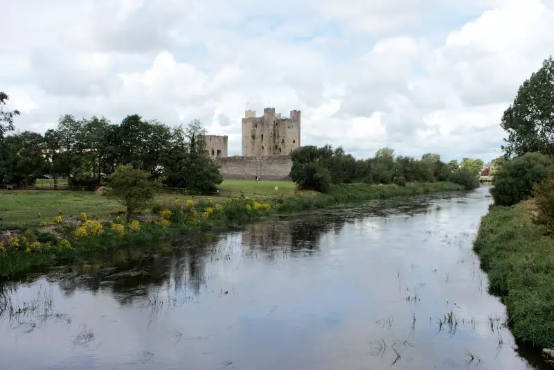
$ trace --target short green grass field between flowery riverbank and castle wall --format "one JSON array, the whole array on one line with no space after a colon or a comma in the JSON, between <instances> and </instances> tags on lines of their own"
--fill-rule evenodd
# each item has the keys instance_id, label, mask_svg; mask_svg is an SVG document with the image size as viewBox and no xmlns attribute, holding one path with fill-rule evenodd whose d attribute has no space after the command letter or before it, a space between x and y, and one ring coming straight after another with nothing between
<instances>
[{"instance_id":1,"label":"short green grass field between flowery riverbank and castle wall","mask_svg":"<svg viewBox=\"0 0 554 370\"><path fill-rule=\"evenodd\" d=\"M44 179L44 182L51 181ZM276 193L275 186L278 186L279 193L294 191L293 182L225 180L221 184L221 196L212 198L218 202L227 199L229 195L237 197L240 191L245 195L271 195ZM170 205L177 199L184 201L192 198L203 197L160 194L154 199L154 204ZM39 224L41 221L55 218L59 211L62 211L64 218L76 217L81 212L86 212L91 219L111 219L111 214L124 210L125 208L116 200L107 199L91 191L0 191L0 229L14 228L23 223Z\"/></svg>"}]
</instances>

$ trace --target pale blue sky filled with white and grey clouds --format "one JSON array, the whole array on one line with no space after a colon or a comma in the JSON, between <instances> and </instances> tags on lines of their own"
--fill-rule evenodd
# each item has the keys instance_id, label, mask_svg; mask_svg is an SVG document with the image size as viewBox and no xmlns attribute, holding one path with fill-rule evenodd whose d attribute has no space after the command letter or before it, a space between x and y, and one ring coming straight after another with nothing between
<instances>
[{"instance_id":1,"label":"pale blue sky filled with white and grey clouds","mask_svg":"<svg viewBox=\"0 0 554 370\"><path fill-rule=\"evenodd\" d=\"M0 0L19 130L62 114L199 118L240 155L245 109L302 111L302 144L501 154L499 121L554 53L554 0Z\"/></svg>"}]
</instances>

